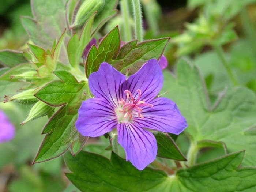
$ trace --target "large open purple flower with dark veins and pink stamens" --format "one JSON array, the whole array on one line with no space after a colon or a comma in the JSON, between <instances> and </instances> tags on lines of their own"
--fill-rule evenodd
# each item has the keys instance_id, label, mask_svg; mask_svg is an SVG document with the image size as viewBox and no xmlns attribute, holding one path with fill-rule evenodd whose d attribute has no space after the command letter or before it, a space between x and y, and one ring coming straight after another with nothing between
<instances>
[{"instance_id":1,"label":"large open purple flower with dark veins and pink stamens","mask_svg":"<svg viewBox=\"0 0 256 192\"><path fill-rule=\"evenodd\" d=\"M89 88L95 98L82 102L76 128L90 137L117 128L126 160L142 170L157 155L156 139L148 129L180 134L187 127L173 101L155 98L162 85L162 71L155 59L128 79L104 62L89 76Z\"/></svg>"}]
</instances>

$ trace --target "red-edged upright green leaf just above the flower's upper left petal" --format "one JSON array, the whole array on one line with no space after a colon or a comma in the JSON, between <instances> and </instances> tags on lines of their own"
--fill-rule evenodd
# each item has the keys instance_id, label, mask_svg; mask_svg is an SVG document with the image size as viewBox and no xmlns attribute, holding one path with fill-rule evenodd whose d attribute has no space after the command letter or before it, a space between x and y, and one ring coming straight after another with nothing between
<instances>
[{"instance_id":1,"label":"red-edged upright green leaf just above the flower's upper left petal","mask_svg":"<svg viewBox=\"0 0 256 192\"><path fill-rule=\"evenodd\" d=\"M111 63L118 54L120 43L120 34L116 26L102 39L98 49L95 46L91 48L86 59L86 76L89 77L92 72L98 71L102 62Z\"/></svg>"}]
</instances>

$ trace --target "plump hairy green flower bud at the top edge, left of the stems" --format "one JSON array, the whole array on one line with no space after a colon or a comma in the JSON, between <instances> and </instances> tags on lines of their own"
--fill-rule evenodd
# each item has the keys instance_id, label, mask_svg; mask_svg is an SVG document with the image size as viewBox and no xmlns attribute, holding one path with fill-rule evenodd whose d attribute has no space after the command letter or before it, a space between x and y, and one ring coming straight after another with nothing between
<instances>
[{"instance_id":1,"label":"plump hairy green flower bud at the top edge, left of the stems","mask_svg":"<svg viewBox=\"0 0 256 192\"><path fill-rule=\"evenodd\" d=\"M75 17L75 22L71 28L79 27L83 25L87 19L93 15L94 12L100 12L105 5L105 0L85 0L79 7L79 10Z\"/></svg>"}]
</instances>

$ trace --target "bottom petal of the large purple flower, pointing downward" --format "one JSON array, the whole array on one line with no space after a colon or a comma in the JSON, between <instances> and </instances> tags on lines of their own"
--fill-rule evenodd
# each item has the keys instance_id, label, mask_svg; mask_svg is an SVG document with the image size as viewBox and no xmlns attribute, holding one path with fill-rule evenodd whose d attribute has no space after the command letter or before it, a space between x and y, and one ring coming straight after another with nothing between
<instances>
[{"instance_id":1,"label":"bottom petal of the large purple flower, pointing downward","mask_svg":"<svg viewBox=\"0 0 256 192\"><path fill-rule=\"evenodd\" d=\"M124 148L126 161L143 170L157 156L157 141L154 135L133 124L118 124L118 143Z\"/></svg>"}]
</instances>

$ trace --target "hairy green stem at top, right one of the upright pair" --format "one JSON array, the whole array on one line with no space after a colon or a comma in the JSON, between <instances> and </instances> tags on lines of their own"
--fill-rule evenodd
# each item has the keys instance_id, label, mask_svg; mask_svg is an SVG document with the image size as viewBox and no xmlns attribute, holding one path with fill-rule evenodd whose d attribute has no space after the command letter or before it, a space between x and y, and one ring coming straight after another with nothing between
<instances>
[{"instance_id":1,"label":"hairy green stem at top, right one of the upright pair","mask_svg":"<svg viewBox=\"0 0 256 192\"><path fill-rule=\"evenodd\" d=\"M132 0L133 5L133 16L135 21L135 35L139 42L143 41L142 35L142 12L140 7L140 0Z\"/></svg>"}]
</instances>

